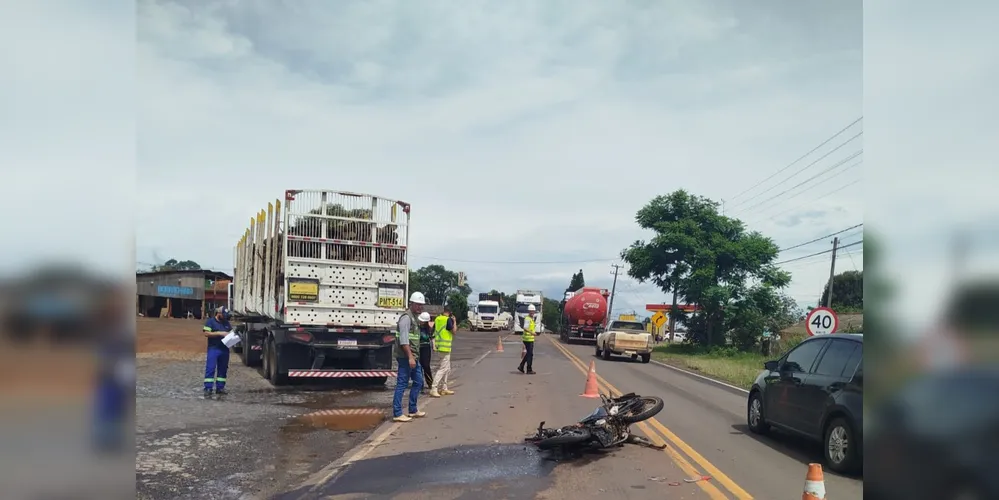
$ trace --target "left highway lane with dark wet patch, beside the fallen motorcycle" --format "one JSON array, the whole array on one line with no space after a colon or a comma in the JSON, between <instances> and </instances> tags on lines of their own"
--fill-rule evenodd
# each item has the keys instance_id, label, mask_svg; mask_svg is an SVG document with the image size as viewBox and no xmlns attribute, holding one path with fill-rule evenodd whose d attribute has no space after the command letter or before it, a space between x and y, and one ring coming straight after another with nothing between
<instances>
[{"instance_id":1,"label":"left highway lane with dark wet patch, beside the fallen motorcycle","mask_svg":"<svg viewBox=\"0 0 999 500\"><path fill-rule=\"evenodd\" d=\"M599 400L579 397L585 377L546 340L538 341L537 374L517 372L521 345L510 337L503 353L462 370L455 395L424 401L426 418L383 424L343 460L275 498L726 498L708 496L714 485L684 482L691 476L661 450L626 445L554 462L525 445L541 420L570 424Z\"/></svg>"}]
</instances>

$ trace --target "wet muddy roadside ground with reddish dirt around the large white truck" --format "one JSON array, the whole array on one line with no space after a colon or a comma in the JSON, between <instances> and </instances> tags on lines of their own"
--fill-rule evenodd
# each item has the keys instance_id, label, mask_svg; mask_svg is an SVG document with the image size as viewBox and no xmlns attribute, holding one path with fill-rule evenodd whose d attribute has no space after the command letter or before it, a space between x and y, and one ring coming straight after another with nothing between
<instances>
[{"instance_id":1,"label":"wet muddy roadside ground with reddish dirt around the large white truck","mask_svg":"<svg viewBox=\"0 0 999 500\"><path fill-rule=\"evenodd\" d=\"M336 380L274 388L235 352L229 394L206 400L200 323L139 319L140 499L269 498L336 461L391 415L391 378L378 388ZM463 366L495 346L488 339L496 334L467 335L467 342L456 341L452 354L455 379ZM453 385L460 386L460 380Z\"/></svg>"}]
</instances>

